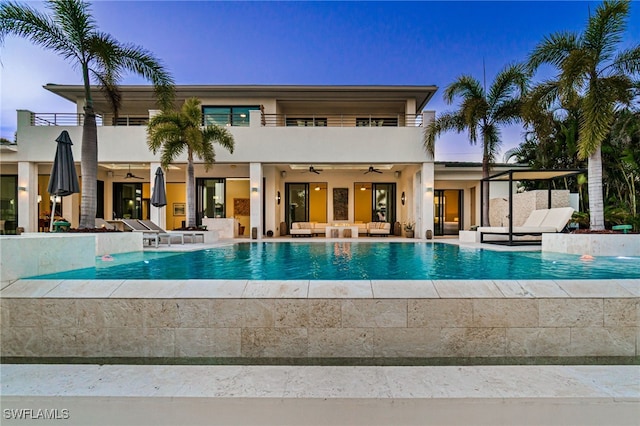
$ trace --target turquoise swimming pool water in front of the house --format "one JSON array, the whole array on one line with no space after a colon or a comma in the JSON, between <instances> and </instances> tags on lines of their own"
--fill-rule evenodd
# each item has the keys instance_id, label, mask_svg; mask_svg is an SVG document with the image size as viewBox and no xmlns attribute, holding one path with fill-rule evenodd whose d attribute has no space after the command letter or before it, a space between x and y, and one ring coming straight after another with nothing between
<instances>
[{"instance_id":1,"label":"turquoise swimming pool water in front of the house","mask_svg":"<svg viewBox=\"0 0 640 426\"><path fill-rule=\"evenodd\" d=\"M640 278L640 258L499 252L443 243L238 243L194 252L98 258L36 279L549 280Z\"/></svg>"}]
</instances>

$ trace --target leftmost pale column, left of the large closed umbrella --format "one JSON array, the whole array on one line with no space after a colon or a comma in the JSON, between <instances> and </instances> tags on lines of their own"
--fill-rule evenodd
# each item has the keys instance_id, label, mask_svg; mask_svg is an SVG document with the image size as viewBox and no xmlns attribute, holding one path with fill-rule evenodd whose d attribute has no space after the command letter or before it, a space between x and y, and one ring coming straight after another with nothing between
<instances>
[{"instance_id":1,"label":"leftmost pale column, left of the large closed umbrella","mask_svg":"<svg viewBox=\"0 0 640 426\"><path fill-rule=\"evenodd\" d=\"M18 226L38 232L38 165L18 162Z\"/></svg>"}]
</instances>

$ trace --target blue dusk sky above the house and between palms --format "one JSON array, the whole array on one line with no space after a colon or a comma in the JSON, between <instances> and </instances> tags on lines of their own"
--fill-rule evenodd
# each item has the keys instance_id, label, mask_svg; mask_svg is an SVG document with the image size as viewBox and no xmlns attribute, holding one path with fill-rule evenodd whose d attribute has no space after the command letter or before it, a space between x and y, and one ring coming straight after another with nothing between
<instances>
[{"instance_id":1,"label":"blue dusk sky above the house and between palms","mask_svg":"<svg viewBox=\"0 0 640 426\"><path fill-rule=\"evenodd\" d=\"M28 2L42 7L40 2ZM427 109L452 109L444 88L461 74L488 84L545 35L580 31L599 2L217 2L96 1L102 31L153 52L177 84L437 85ZM631 4L626 45L640 42L640 2ZM1 135L13 139L17 109L74 112L42 89L80 84L79 70L29 42L0 53ZM145 83L126 76L123 84ZM503 149L522 129L503 131ZM443 136L436 159L480 161L465 134Z\"/></svg>"}]
</instances>

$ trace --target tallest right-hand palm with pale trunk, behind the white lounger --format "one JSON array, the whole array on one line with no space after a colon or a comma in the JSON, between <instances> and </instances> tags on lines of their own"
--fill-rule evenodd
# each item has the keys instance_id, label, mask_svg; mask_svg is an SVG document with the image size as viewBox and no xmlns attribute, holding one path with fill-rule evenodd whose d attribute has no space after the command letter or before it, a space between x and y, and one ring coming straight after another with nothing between
<instances>
[{"instance_id":1,"label":"tallest right-hand palm with pale trunk, behind the white lounger","mask_svg":"<svg viewBox=\"0 0 640 426\"><path fill-rule=\"evenodd\" d=\"M558 69L554 81L544 83L549 100L577 103L580 112L578 155L588 159L590 226L604 229L602 141L620 105L637 96L640 46L618 51L629 15L629 2L605 1L589 17L584 33L552 34L529 57L530 69L542 64Z\"/></svg>"}]
</instances>

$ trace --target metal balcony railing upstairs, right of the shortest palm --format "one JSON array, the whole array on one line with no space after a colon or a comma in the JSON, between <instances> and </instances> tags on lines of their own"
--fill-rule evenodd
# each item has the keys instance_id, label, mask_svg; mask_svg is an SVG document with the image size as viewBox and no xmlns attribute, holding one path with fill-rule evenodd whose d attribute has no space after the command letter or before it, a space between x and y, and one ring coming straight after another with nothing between
<instances>
[{"instance_id":1,"label":"metal balcony railing upstairs, right of the shortest palm","mask_svg":"<svg viewBox=\"0 0 640 426\"><path fill-rule=\"evenodd\" d=\"M262 114L265 127L422 127L422 114Z\"/></svg>"}]
</instances>

